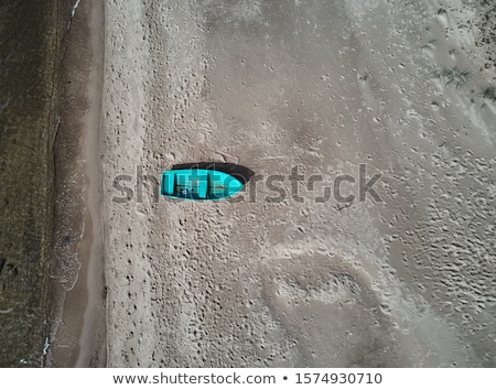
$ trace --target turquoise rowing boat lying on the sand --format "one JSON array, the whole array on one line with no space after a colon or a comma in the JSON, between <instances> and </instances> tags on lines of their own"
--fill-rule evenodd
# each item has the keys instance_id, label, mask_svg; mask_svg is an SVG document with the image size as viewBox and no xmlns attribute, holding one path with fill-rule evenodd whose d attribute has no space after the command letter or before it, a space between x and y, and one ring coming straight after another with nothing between
<instances>
[{"instance_id":1,"label":"turquoise rowing boat lying on the sand","mask_svg":"<svg viewBox=\"0 0 496 390\"><path fill-rule=\"evenodd\" d=\"M184 201L219 201L244 187L236 177L214 170L171 170L161 175L160 195Z\"/></svg>"}]
</instances>

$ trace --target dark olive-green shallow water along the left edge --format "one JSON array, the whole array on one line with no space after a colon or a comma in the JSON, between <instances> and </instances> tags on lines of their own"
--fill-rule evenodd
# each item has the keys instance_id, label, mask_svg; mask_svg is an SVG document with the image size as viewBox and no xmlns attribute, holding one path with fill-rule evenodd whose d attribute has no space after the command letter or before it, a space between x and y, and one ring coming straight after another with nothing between
<instances>
[{"instance_id":1,"label":"dark olive-green shallow water along the left edge","mask_svg":"<svg viewBox=\"0 0 496 390\"><path fill-rule=\"evenodd\" d=\"M0 2L0 367L43 364L56 72L71 7Z\"/></svg>"}]
</instances>

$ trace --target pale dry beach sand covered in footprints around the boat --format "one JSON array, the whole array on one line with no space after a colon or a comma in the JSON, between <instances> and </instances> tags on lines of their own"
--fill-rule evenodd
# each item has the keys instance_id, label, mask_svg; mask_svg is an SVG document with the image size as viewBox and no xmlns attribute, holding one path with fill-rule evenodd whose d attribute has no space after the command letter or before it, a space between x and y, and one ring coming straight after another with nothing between
<instances>
[{"instance_id":1,"label":"pale dry beach sand covered in footprints around the boat","mask_svg":"<svg viewBox=\"0 0 496 390\"><path fill-rule=\"evenodd\" d=\"M496 366L495 68L474 3L107 1L107 366ZM157 203L160 172L197 161L283 175L287 198L258 181ZM358 195L359 164L384 202L290 196L295 165Z\"/></svg>"}]
</instances>

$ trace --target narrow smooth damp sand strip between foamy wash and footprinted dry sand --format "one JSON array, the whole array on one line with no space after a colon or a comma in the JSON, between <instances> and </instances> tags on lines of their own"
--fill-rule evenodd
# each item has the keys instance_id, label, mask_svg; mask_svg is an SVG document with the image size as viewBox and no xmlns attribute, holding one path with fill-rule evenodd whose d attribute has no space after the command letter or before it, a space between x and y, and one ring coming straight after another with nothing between
<instances>
[{"instance_id":1,"label":"narrow smooth damp sand strip between foamy wash and footprinted dry sand","mask_svg":"<svg viewBox=\"0 0 496 390\"><path fill-rule=\"evenodd\" d=\"M84 237L89 236L88 247L82 249L87 254L87 305L84 313L79 356L76 367L105 367L106 364L106 315L105 275L103 248L101 204L101 95L105 55L105 6L89 0L89 26L91 31L93 61L88 83L89 109L85 134L86 158L86 215Z\"/></svg>"}]
</instances>

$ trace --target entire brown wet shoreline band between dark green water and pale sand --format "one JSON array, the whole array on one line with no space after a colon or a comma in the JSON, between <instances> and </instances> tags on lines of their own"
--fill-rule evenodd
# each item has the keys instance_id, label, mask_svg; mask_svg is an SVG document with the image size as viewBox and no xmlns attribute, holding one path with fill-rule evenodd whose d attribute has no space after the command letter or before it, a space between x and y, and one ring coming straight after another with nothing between
<instances>
[{"instance_id":1,"label":"entire brown wet shoreline band between dark green water and pale sand","mask_svg":"<svg viewBox=\"0 0 496 390\"><path fill-rule=\"evenodd\" d=\"M105 353L99 350L105 344L105 304L103 294L89 285L95 274L103 277L103 266L95 267L101 247L96 249L100 242L99 142L98 136L94 136L99 134L101 104L101 88L98 87L104 52L101 9L94 0L79 3L64 39L61 127L55 148L57 242L52 275L55 285L52 293L54 324L47 359L51 367L105 366ZM99 280L104 290L103 278ZM100 315L100 322L97 322L97 315ZM97 334L89 344L88 333Z\"/></svg>"}]
</instances>

